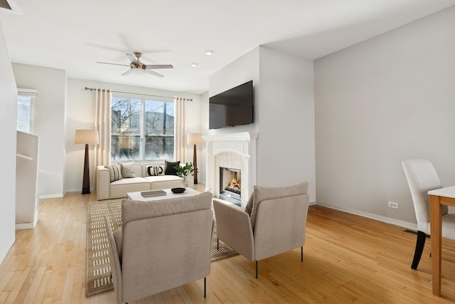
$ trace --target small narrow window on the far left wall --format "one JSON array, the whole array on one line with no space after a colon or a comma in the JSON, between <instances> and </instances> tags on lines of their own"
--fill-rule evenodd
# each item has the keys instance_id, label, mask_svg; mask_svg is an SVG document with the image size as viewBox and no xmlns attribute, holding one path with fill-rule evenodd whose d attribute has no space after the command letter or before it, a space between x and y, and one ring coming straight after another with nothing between
<instances>
[{"instance_id":1,"label":"small narrow window on the far left wall","mask_svg":"<svg viewBox=\"0 0 455 304\"><path fill-rule=\"evenodd\" d=\"M17 130L33 133L33 100L36 90L18 89Z\"/></svg>"}]
</instances>

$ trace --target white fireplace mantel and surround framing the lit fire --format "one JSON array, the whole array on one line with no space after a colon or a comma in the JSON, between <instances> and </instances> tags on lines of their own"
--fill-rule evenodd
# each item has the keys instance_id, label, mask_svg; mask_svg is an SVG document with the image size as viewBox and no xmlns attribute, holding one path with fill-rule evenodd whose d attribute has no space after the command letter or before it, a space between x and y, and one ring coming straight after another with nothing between
<instances>
[{"instance_id":1,"label":"white fireplace mantel and surround framing the lit fire","mask_svg":"<svg viewBox=\"0 0 455 304\"><path fill-rule=\"evenodd\" d=\"M203 136L207 151L205 190L220 196L220 165L242 172L241 206L247 204L256 183L257 133L238 132Z\"/></svg>"}]
</instances>

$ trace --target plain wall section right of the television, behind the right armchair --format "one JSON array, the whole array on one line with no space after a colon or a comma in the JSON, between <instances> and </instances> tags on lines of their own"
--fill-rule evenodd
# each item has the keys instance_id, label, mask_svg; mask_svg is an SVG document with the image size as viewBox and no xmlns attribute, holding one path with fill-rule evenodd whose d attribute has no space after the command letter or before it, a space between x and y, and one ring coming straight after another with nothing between
<instances>
[{"instance_id":1,"label":"plain wall section right of the television, behind the right armchair","mask_svg":"<svg viewBox=\"0 0 455 304\"><path fill-rule=\"evenodd\" d=\"M313 61L259 48L257 182L309 182L316 200Z\"/></svg>"}]
</instances>

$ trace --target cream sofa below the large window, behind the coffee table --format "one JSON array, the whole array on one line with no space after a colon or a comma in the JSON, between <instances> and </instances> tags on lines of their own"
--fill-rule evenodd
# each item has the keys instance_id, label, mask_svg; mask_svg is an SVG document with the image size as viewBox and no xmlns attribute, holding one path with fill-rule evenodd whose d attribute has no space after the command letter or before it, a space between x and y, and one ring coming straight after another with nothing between
<instances>
[{"instance_id":1,"label":"cream sofa below the large window, behind the coffee table","mask_svg":"<svg viewBox=\"0 0 455 304\"><path fill-rule=\"evenodd\" d=\"M128 167L135 177L122 177L122 179L111 182L112 170L109 171L105 166L97 166L95 180L98 200L124 198L127 197L127 192L182 187L181 177L164 175L166 170L166 164L164 162L147 164L129 163ZM161 172L162 175L150 176L149 167L162 167L164 171ZM121 171L120 167L118 169ZM188 181L189 187L193 187L193 179L188 177Z\"/></svg>"}]
</instances>

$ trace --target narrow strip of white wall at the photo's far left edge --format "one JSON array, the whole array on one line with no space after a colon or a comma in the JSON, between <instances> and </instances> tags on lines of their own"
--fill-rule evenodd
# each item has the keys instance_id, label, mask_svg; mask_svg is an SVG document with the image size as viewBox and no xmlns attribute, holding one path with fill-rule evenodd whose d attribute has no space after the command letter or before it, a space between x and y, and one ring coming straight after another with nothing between
<instances>
[{"instance_id":1,"label":"narrow strip of white wall at the photo's far left edge","mask_svg":"<svg viewBox=\"0 0 455 304\"><path fill-rule=\"evenodd\" d=\"M1 171L4 178L0 183L0 263L14 243L16 219L16 127L17 89L8 48L0 23L0 129L4 144L0 149Z\"/></svg>"}]
</instances>

